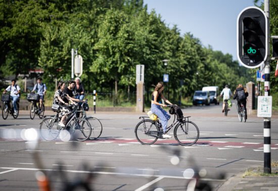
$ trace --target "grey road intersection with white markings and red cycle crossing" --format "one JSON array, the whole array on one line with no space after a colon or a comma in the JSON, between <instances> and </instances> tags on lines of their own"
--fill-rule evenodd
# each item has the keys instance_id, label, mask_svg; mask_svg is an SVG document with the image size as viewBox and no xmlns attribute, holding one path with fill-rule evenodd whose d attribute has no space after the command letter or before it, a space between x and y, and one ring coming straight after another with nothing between
<instances>
[{"instance_id":1,"label":"grey road intersection with white markings and red cycle crossing","mask_svg":"<svg viewBox=\"0 0 278 191\"><path fill-rule=\"evenodd\" d=\"M22 111L16 120L1 118L0 190L38 190L38 168L47 172L53 190L88 174L94 175L90 185L96 190L184 190L194 167L203 169L202 174L207 174L203 180L217 190L226 179L248 167L263 166L263 118L248 116L246 123L239 122L235 105L227 117L221 113L221 106L215 105L188 108L183 114L192 116L190 120L200 129L200 138L191 147L179 146L174 138L159 139L151 146L138 144L134 127L144 113L97 112L92 115L104 127L99 139L39 140L37 145L21 136L23 129L39 129L41 120L37 116L30 120ZM277 125L275 116L271 118L273 161L278 160ZM177 152L180 155L175 157ZM59 168L64 169L61 176L55 171ZM225 178L219 176L221 173Z\"/></svg>"}]
</instances>

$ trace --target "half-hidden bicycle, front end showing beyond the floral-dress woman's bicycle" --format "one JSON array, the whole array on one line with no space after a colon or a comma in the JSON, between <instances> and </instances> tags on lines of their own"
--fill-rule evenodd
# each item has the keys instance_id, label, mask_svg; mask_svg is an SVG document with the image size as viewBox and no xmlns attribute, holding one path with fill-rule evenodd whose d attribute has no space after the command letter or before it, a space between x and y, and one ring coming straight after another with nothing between
<instances>
[{"instance_id":1,"label":"half-hidden bicycle, front end showing beyond the floral-dress woman's bicycle","mask_svg":"<svg viewBox=\"0 0 278 191\"><path fill-rule=\"evenodd\" d=\"M89 139L95 140L99 138L102 134L102 123L96 117L87 116L86 111L88 110L89 110L88 100L84 100L80 105L80 107L78 108L78 112L81 115L81 118L84 118L89 121L91 125L91 134Z\"/></svg>"}]
</instances>

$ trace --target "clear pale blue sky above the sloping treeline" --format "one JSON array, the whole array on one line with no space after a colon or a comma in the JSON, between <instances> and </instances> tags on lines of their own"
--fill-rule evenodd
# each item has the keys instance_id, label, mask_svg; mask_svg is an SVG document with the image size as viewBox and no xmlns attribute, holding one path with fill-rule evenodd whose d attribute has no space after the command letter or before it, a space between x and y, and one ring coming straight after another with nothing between
<instances>
[{"instance_id":1,"label":"clear pale blue sky above the sloping treeline","mask_svg":"<svg viewBox=\"0 0 278 191\"><path fill-rule=\"evenodd\" d=\"M254 0L144 0L144 4L170 28L177 25L181 35L190 32L204 46L238 60L237 17L244 8L254 6Z\"/></svg>"}]
</instances>

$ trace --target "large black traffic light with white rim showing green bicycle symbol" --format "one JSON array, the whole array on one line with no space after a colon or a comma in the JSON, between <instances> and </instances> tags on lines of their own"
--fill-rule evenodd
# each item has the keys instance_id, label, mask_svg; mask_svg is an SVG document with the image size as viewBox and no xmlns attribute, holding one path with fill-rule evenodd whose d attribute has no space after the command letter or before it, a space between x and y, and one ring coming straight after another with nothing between
<instances>
[{"instance_id":1,"label":"large black traffic light with white rim showing green bicycle symbol","mask_svg":"<svg viewBox=\"0 0 278 191\"><path fill-rule=\"evenodd\" d=\"M257 68L267 58L267 18L257 7L247 7L238 16L237 56L247 68Z\"/></svg>"}]
</instances>

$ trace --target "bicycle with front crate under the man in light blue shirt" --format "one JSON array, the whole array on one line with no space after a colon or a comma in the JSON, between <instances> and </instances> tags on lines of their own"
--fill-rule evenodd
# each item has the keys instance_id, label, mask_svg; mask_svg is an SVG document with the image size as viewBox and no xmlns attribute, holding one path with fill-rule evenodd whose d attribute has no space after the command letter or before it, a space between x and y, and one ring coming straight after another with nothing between
<instances>
[{"instance_id":1,"label":"bicycle with front crate under the man in light blue shirt","mask_svg":"<svg viewBox=\"0 0 278 191\"><path fill-rule=\"evenodd\" d=\"M43 118L44 115L44 104L42 102L42 109L40 109L39 103L39 94L37 93L28 93L27 100L31 102L30 104L30 119L34 119L35 115L37 114L40 119ZM37 106L38 103L38 106Z\"/></svg>"}]
</instances>

